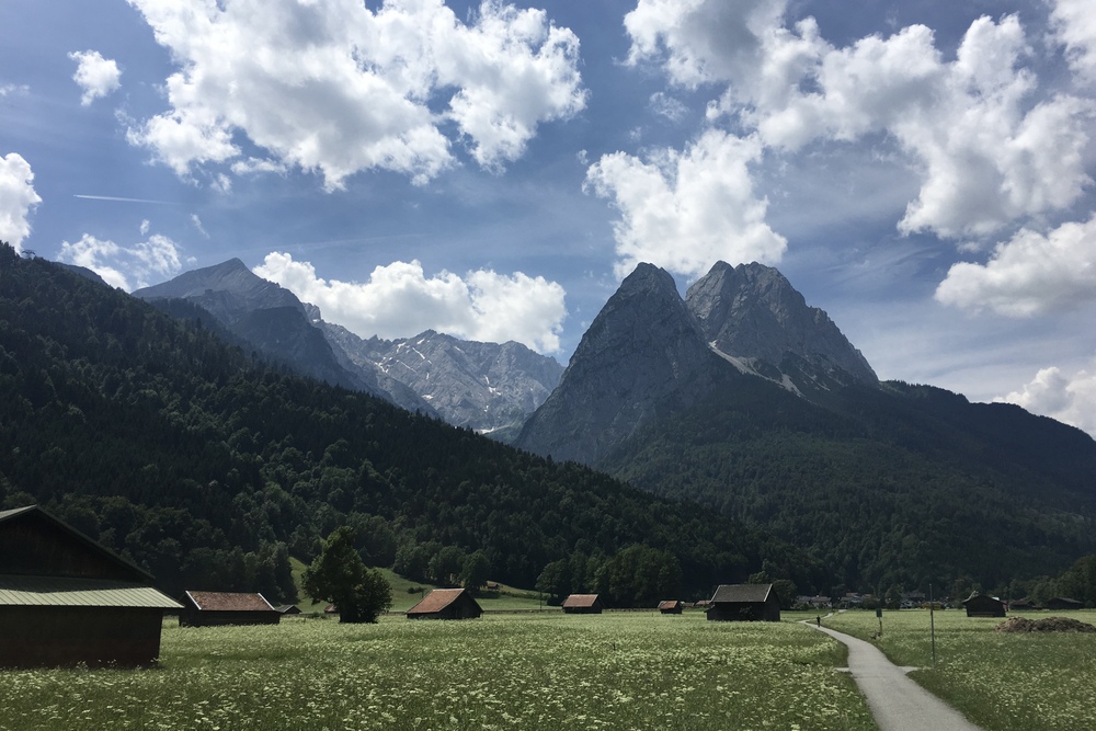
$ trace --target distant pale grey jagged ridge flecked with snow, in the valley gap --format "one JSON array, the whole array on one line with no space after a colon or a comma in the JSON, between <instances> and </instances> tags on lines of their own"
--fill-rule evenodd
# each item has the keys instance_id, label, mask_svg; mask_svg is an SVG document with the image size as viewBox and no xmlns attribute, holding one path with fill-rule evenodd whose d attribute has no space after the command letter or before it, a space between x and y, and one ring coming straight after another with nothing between
<instances>
[{"instance_id":1,"label":"distant pale grey jagged ridge flecked with snow, in the valley gap","mask_svg":"<svg viewBox=\"0 0 1096 731\"><path fill-rule=\"evenodd\" d=\"M339 325L328 338L381 384L400 384L450 424L493 432L525 421L559 384L563 367L515 342L464 341L427 330L414 338L362 340Z\"/></svg>"}]
</instances>

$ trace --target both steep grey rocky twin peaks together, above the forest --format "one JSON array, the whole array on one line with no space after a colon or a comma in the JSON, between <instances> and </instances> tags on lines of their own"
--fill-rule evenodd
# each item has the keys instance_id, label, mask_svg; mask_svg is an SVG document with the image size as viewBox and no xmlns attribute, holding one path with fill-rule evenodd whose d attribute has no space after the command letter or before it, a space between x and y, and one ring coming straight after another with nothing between
<instances>
[{"instance_id":1,"label":"both steep grey rocky twin peaks together, above the forest","mask_svg":"<svg viewBox=\"0 0 1096 731\"><path fill-rule=\"evenodd\" d=\"M596 465L652 420L688 409L738 373L804 398L853 381L878 385L826 313L775 269L720 262L683 300L669 273L640 264L515 446Z\"/></svg>"}]
</instances>

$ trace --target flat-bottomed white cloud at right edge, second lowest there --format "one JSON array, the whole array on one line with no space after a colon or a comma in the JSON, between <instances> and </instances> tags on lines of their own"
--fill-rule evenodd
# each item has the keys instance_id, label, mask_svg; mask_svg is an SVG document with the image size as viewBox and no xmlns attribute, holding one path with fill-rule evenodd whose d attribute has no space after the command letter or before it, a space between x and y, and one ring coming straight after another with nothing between
<instances>
[{"instance_id":1,"label":"flat-bottomed white cloud at right edge, second lowest there","mask_svg":"<svg viewBox=\"0 0 1096 731\"><path fill-rule=\"evenodd\" d=\"M1020 230L985 264L951 266L936 299L968 310L1029 317L1096 300L1096 215L1047 235Z\"/></svg>"}]
</instances>

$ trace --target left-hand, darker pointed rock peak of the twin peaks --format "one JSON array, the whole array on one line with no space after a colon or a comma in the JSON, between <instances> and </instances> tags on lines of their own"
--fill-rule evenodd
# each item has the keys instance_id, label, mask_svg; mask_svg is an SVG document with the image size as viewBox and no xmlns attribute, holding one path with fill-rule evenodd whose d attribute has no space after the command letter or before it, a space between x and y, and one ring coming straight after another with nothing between
<instances>
[{"instance_id":1,"label":"left-hand, darker pointed rock peak of the twin peaks","mask_svg":"<svg viewBox=\"0 0 1096 731\"><path fill-rule=\"evenodd\" d=\"M515 446L595 464L661 410L688 406L719 367L673 277L640 264L594 319Z\"/></svg>"}]
</instances>

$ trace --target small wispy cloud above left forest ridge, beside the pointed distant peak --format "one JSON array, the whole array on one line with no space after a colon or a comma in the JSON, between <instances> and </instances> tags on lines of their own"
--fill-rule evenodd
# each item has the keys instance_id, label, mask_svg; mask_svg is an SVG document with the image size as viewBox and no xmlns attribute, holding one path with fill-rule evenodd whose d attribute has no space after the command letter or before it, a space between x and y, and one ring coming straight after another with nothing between
<instances>
[{"instance_id":1,"label":"small wispy cloud above left forest ridge, beside the pointed distant peak","mask_svg":"<svg viewBox=\"0 0 1096 731\"><path fill-rule=\"evenodd\" d=\"M141 226L142 232L146 227ZM165 236L153 233L147 241L122 247L84 233L76 242L61 242L58 261L84 266L113 287L133 292L155 284L153 279L174 276L182 269L179 247Z\"/></svg>"}]
</instances>

